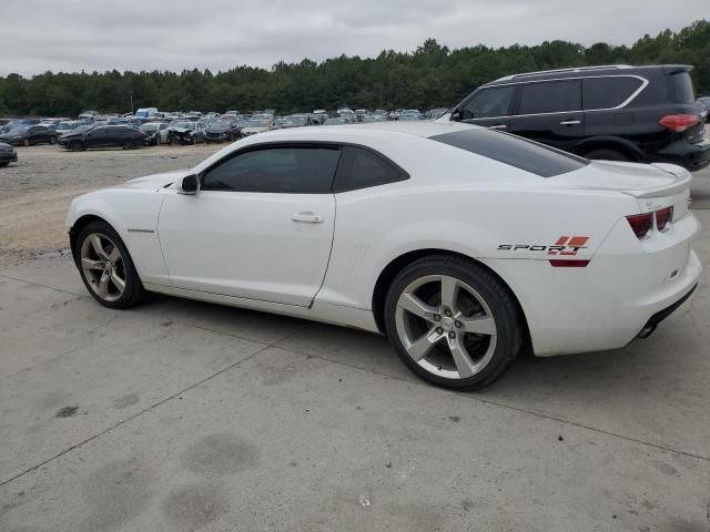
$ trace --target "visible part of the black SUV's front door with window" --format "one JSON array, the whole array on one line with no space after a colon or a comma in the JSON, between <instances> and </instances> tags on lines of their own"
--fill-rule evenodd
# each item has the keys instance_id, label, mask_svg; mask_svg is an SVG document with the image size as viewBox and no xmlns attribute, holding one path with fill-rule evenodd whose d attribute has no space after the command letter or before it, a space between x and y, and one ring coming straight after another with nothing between
<instances>
[{"instance_id":1,"label":"visible part of the black SUV's front door with window","mask_svg":"<svg viewBox=\"0 0 710 532\"><path fill-rule=\"evenodd\" d=\"M471 94L453 119L494 130L506 130L515 102L515 85L487 86Z\"/></svg>"}]
</instances>

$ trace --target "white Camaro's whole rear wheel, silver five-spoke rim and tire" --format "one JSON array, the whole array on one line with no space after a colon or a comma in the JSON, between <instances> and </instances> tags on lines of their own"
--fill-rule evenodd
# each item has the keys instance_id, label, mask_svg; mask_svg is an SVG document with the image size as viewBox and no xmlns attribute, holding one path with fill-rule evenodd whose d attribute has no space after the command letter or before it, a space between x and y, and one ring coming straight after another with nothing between
<instances>
[{"instance_id":1,"label":"white Camaro's whole rear wheel, silver five-spoke rim and tire","mask_svg":"<svg viewBox=\"0 0 710 532\"><path fill-rule=\"evenodd\" d=\"M493 274L460 257L417 260L394 280L385 304L389 340L425 380L456 390L500 377L523 344L517 305Z\"/></svg>"}]
</instances>

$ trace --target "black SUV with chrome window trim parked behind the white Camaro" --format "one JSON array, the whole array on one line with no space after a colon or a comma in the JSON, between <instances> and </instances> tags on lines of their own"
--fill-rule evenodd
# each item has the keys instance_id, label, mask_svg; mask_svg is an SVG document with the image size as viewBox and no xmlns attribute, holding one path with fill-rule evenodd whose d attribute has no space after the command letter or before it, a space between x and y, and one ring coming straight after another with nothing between
<instances>
[{"instance_id":1,"label":"black SUV with chrome window trim parked behind the white Camaro","mask_svg":"<svg viewBox=\"0 0 710 532\"><path fill-rule=\"evenodd\" d=\"M479 86L449 119L588 158L710 164L707 110L688 65L607 65L509 75ZM442 119L440 119L442 120Z\"/></svg>"}]
</instances>

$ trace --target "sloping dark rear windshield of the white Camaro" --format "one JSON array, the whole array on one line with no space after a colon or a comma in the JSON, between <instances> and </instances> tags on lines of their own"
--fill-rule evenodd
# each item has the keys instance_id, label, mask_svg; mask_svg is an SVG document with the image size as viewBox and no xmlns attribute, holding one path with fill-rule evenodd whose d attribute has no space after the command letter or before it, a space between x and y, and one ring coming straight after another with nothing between
<instances>
[{"instance_id":1,"label":"sloping dark rear windshield of the white Camaro","mask_svg":"<svg viewBox=\"0 0 710 532\"><path fill-rule=\"evenodd\" d=\"M467 152L493 158L540 177L554 177L579 170L589 161L536 142L498 131L471 127L430 137Z\"/></svg>"}]
</instances>

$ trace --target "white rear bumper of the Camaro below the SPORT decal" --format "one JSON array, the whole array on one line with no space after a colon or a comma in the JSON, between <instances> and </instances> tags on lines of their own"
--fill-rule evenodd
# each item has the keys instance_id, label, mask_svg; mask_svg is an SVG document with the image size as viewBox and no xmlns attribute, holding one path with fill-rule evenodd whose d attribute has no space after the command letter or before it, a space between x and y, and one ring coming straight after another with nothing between
<instances>
[{"instance_id":1,"label":"white rear bumper of the Camaro below the SPORT decal","mask_svg":"<svg viewBox=\"0 0 710 532\"><path fill-rule=\"evenodd\" d=\"M489 265L518 297L532 350L547 357L618 349L657 325L694 289L702 265L690 248L699 229L692 213L632 247L626 221L584 268L552 268L547 260ZM616 234L616 235L615 235Z\"/></svg>"}]
</instances>

